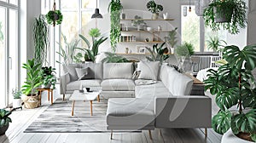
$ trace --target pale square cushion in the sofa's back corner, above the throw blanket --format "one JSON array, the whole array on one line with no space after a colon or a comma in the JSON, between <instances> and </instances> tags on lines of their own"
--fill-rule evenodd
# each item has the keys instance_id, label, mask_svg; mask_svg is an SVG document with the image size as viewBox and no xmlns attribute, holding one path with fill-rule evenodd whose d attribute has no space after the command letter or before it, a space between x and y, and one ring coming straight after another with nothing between
<instances>
[{"instance_id":1,"label":"pale square cushion in the sofa's back corner, above the throw blanket","mask_svg":"<svg viewBox=\"0 0 256 143\"><path fill-rule=\"evenodd\" d=\"M138 78L157 80L159 65L159 61L140 61L137 65L137 71L141 71Z\"/></svg>"}]
</instances>

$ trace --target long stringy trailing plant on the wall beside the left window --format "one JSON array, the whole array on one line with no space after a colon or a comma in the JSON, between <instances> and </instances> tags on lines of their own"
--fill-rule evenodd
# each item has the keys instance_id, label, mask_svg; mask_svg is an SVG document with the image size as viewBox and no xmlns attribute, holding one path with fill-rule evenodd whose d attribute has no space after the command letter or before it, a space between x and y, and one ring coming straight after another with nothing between
<instances>
[{"instance_id":1,"label":"long stringy trailing plant on the wall beside the left window","mask_svg":"<svg viewBox=\"0 0 256 143\"><path fill-rule=\"evenodd\" d=\"M38 18L35 19L33 25L33 40L35 46L34 58L36 63L44 63L47 58L47 49L49 46L49 32L48 26L45 22L43 14L40 14Z\"/></svg>"}]
</instances>

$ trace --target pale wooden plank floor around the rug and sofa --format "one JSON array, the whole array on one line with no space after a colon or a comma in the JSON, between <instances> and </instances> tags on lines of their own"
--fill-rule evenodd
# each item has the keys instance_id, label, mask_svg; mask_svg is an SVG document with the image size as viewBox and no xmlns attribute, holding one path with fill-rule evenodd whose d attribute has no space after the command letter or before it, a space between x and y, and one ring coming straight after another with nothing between
<instances>
[{"instance_id":1,"label":"pale wooden plank floor around the rug and sofa","mask_svg":"<svg viewBox=\"0 0 256 143\"><path fill-rule=\"evenodd\" d=\"M58 93L55 93L55 95ZM55 97L57 98L57 97ZM43 106L37 109L23 109L22 111L13 112L6 134L0 136L0 143L201 143L211 142L219 143L221 135L216 134L212 129L208 129L208 136L205 138L204 129L160 129L152 131L153 140L149 139L148 131L143 133L116 133L113 134L113 140L109 140L110 133L23 133L23 131L49 106L46 95L43 96ZM214 109L213 109L214 110Z\"/></svg>"}]
</instances>

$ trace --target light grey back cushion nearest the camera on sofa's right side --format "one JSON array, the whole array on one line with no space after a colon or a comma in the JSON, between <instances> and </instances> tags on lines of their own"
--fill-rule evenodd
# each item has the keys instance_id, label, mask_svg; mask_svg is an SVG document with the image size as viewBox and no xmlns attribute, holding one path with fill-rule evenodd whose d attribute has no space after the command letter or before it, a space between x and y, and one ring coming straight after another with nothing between
<instances>
[{"instance_id":1,"label":"light grey back cushion nearest the camera on sofa's right side","mask_svg":"<svg viewBox=\"0 0 256 143\"><path fill-rule=\"evenodd\" d=\"M167 87L173 95L189 95L193 85L193 79L182 73L173 70L172 67L166 67L168 72L169 86Z\"/></svg>"}]
</instances>

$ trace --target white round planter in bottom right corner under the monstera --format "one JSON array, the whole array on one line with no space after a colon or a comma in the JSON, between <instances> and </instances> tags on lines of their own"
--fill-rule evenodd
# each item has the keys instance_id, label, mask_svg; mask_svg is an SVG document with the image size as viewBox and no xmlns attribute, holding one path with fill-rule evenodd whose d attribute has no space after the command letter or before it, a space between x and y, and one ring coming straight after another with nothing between
<instances>
[{"instance_id":1,"label":"white round planter in bottom right corner under the monstera","mask_svg":"<svg viewBox=\"0 0 256 143\"><path fill-rule=\"evenodd\" d=\"M233 134L232 130L228 130L225 134L222 136L221 143L252 143L251 141L242 140L238 138L235 134Z\"/></svg>"}]
</instances>

